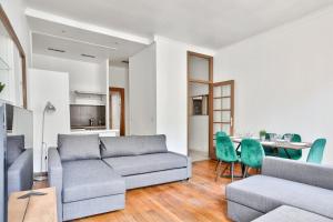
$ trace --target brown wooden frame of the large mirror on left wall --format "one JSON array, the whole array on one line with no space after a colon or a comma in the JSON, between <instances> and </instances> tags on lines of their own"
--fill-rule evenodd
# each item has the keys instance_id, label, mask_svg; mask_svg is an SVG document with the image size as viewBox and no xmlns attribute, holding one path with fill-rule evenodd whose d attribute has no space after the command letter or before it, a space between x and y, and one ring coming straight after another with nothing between
<instances>
[{"instance_id":1,"label":"brown wooden frame of the large mirror on left wall","mask_svg":"<svg viewBox=\"0 0 333 222\"><path fill-rule=\"evenodd\" d=\"M9 18L6 14L6 11L3 10L2 6L0 4L0 21L3 24L6 31L8 32L9 37L13 41L14 46L18 48L20 58L21 58L21 65L22 65L22 99L23 99L23 108L28 107L28 99L27 99L27 64L26 64L26 53L23 50L22 44L20 43L20 40L12 28Z\"/></svg>"}]
</instances>

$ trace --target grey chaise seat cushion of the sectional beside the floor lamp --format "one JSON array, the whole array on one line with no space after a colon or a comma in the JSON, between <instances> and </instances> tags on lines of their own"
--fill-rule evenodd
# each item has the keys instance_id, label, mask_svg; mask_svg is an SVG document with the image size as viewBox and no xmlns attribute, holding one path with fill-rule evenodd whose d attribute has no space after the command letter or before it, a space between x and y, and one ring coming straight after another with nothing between
<instances>
[{"instance_id":1,"label":"grey chaise seat cushion of the sectional beside the floor lamp","mask_svg":"<svg viewBox=\"0 0 333 222\"><path fill-rule=\"evenodd\" d=\"M64 203L122 194L124 180L102 160L80 160L62 163Z\"/></svg>"}]
</instances>

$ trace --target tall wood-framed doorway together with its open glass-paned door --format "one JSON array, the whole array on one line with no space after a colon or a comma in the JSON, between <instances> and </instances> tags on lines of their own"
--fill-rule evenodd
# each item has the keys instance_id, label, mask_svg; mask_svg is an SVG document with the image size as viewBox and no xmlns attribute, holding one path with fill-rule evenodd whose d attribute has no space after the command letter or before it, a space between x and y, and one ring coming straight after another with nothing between
<instances>
[{"instance_id":1,"label":"tall wood-framed doorway together with its open glass-paned door","mask_svg":"<svg viewBox=\"0 0 333 222\"><path fill-rule=\"evenodd\" d=\"M234 131L234 81L213 82L213 57L188 52L188 153L216 159L215 133Z\"/></svg>"}]
</instances>

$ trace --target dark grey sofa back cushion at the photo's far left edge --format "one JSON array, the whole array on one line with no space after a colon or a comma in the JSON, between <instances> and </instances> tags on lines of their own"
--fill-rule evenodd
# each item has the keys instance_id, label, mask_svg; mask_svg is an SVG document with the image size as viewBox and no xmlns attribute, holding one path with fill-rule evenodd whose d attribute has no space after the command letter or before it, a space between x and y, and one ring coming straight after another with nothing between
<instances>
[{"instance_id":1,"label":"dark grey sofa back cushion at the photo's far left edge","mask_svg":"<svg viewBox=\"0 0 333 222\"><path fill-rule=\"evenodd\" d=\"M11 165L24 151L24 135L7 137L7 165Z\"/></svg>"}]
</instances>

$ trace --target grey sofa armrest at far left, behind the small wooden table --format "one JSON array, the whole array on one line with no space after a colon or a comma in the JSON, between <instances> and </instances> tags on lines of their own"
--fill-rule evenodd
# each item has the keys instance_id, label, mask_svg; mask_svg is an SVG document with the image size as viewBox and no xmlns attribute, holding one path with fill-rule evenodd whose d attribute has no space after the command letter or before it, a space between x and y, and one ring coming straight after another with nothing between
<instances>
[{"instance_id":1,"label":"grey sofa armrest at far left, behind the small wooden table","mask_svg":"<svg viewBox=\"0 0 333 222\"><path fill-rule=\"evenodd\" d=\"M8 194L31 190L33 184L32 149L27 149L8 169Z\"/></svg>"}]
</instances>

